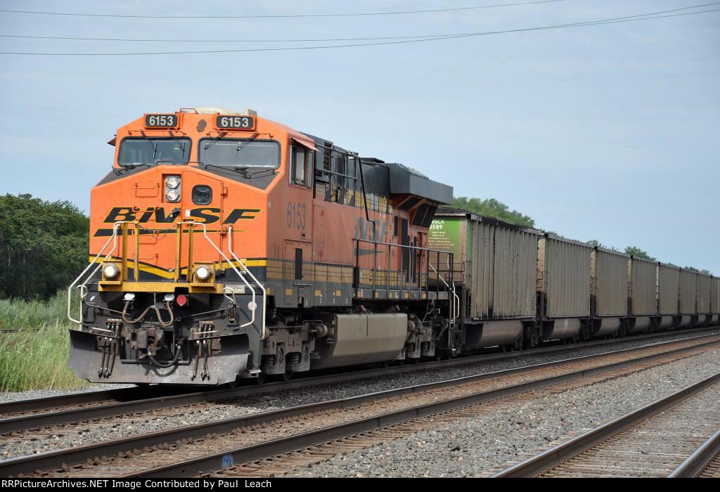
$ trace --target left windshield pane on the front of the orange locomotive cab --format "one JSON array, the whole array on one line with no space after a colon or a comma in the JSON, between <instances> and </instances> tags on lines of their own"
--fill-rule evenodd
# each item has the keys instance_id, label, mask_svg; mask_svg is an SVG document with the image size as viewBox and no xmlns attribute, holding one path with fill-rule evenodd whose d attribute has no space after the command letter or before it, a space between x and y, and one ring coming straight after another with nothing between
<instances>
[{"instance_id":1,"label":"left windshield pane on the front of the orange locomotive cab","mask_svg":"<svg viewBox=\"0 0 720 492\"><path fill-rule=\"evenodd\" d=\"M120 143L117 163L137 164L186 164L190 159L189 138L126 138Z\"/></svg>"}]
</instances>

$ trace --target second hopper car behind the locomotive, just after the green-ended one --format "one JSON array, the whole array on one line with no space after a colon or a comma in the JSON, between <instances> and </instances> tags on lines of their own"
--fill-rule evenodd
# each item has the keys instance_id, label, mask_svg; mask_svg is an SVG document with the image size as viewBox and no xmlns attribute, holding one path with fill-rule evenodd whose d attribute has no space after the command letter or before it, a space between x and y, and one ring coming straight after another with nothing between
<instances>
[{"instance_id":1,"label":"second hopper car behind the locomotive, just after the green-ended one","mask_svg":"<svg viewBox=\"0 0 720 492\"><path fill-rule=\"evenodd\" d=\"M592 250L590 245L552 234L540 237L537 292L544 340L588 336Z\"/></svg>"}]
</instances>

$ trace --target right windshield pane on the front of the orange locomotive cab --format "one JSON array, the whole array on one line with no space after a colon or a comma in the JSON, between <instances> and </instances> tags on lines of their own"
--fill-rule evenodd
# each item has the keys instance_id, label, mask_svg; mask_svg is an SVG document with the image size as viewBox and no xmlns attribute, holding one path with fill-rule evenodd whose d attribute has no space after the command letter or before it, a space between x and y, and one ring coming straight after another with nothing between
<instances>
[{"instance_id":1,"label":"right windshield pane on the front of the orange locomotive cab","mask_svg":"<svg viewBox=\"0 0 720 492\"><path fill-rule=\"evenodd\" d=\"M230 168L277 169L280 144L275 140L204 139L200 140L199 161Z\"/></svg>"}]
</instances>

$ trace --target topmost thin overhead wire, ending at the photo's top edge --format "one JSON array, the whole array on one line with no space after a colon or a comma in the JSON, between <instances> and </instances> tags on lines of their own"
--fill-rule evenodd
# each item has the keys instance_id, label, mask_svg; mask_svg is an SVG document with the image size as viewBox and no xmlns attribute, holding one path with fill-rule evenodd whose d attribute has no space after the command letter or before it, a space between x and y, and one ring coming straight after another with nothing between
<instances>
[{"instance_id":1,"label":"topmost thin overhead wire, ending at the photo's top edge","mask_svg":"<svg viewBox=\"0 0 720 492\"><path fill-rule=\"evenodd\" d=\"M71 17L115 17L120 19L287 19L293 17L366 17L374 15L432 14L434 12L459 12L463 10L497 9L505 6L554 4L566 0L523 1L513 4L450 7L446 9L402 10L397 12L354 12L348 14L258 14L258 15L132 15L132 14L75 14L72 12L37 12L32 10L0 9L12 14L63 15Z\"/></svg>"}]
</instances>

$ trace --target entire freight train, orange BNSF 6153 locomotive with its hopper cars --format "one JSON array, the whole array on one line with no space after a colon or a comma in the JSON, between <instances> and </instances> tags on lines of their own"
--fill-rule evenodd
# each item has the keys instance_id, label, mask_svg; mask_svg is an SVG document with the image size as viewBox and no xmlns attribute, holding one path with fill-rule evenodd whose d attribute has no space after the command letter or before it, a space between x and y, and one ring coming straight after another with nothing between
<instances>
[{"instance_id":1,"label":"entire freight train, orange BNSF 6153 locomotive with its hopper cars","mask_svg":"<svg viewBox=\"0 0 720 492\"><path fill-rule=\"evenodd\" d=\"M716 324L720 278L454 209L254 111L121 127L68 290L92 382L234 384Z\"/></svg>"}]
</instances>

